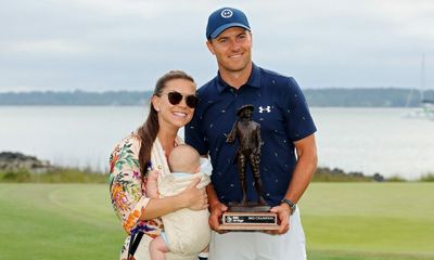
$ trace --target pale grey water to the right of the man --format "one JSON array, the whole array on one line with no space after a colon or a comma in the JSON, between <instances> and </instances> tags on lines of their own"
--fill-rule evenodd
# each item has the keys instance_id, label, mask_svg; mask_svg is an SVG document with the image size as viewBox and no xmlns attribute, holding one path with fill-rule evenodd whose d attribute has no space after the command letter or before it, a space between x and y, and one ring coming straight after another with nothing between
<instances>
[{"instance_id":1,"label":"pale grey water to the right of the man","mask_svg":"<svg viewBox=\"0 0 434 260\"><path fill-rule=\"evenodd\" d=\"M418 179L434 173L434 121L405 108L312 108L319 165Z\"/></svg>"}]
</instances>

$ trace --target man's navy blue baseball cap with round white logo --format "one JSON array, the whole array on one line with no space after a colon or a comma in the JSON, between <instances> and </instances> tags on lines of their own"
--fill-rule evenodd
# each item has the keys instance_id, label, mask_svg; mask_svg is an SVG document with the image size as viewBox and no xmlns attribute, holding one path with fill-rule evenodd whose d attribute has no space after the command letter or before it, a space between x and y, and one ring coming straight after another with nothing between
<instances>
[{"instance_id":1,"label":"man's navy blue baseball cap with round white logo","mask_svg":"<svg viewBox=\"0 0 434 260\"><path fill-rule=\"evenodd\" d=\"M222 8L214 11L206 25L206 39L215 39L224 30L230 27L241 27L251 30L245 14L233 8Z\"/></svg>"}]
</instances>

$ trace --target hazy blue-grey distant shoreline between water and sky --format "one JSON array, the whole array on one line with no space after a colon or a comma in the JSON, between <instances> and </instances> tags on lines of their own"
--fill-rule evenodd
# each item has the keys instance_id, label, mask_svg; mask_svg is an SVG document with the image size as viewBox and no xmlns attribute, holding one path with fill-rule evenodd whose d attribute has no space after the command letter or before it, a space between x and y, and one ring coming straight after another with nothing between
<instances>
[{"instance_id":1,"label":"hazy blue-grey distant shoreline between water and sky","mask_svg":"<svg viewBox=\"0 0 434 260\"><path fill-rule=\"evenodd\" d=\"M303 90L312 107L418 107L420 93L399 88ZM0 93L0 106L143 106L152 91L31 91ZM434 90L425 91L433 98Z\"/></svg>"}]
</instances>

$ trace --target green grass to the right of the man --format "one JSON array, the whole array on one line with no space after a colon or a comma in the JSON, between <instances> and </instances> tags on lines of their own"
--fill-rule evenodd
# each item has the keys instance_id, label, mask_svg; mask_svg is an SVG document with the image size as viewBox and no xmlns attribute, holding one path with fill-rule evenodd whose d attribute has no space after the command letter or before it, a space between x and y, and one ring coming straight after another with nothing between
<instances>
[{"instance_id":1,"label":"green grass to the right of the man","mask_svg":"<svg viewBox=\"0 0 434 260\"><path fill-rule=\"evenodd\" d=\"M434 259L431 183L314 183L301 208L311 259Z\"/></svg>"}]
</instances>

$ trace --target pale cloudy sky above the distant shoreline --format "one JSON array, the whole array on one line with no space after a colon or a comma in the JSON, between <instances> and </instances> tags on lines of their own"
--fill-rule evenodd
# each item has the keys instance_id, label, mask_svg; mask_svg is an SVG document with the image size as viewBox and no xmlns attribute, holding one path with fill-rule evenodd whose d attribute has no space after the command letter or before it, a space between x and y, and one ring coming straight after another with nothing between
<instances>
[{"instance_id":1,"label":"pale cloudy sky above the distant shoreline","mask_svg":"<svg viewBox=\"0 0 434 260\"><path fill-rule=\"evenodd\" d=\"M246 13L255 64L293 76L302 89L434 89L433 0L0 0L0 92L152 90L171 69L201 86L217 73L205 27L222 6Z\"/></svg>"}]
</instances>

